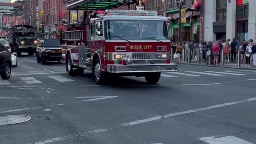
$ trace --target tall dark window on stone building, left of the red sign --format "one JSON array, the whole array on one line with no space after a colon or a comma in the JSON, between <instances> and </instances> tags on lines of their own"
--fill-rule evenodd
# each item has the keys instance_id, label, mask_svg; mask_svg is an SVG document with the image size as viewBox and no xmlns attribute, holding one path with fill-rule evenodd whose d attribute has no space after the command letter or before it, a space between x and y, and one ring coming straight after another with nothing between
<instances>
[{"instance_id":1,"label":"tall dark window on stone building, left of the red sign","mask_svg":"<svg viewBox=\"0 0 256 144\"><path fill-rule=\"evenodd\" d=\"M216 21L227 19L227 0L216 0Z\"/></svg>"}]
</instances>

